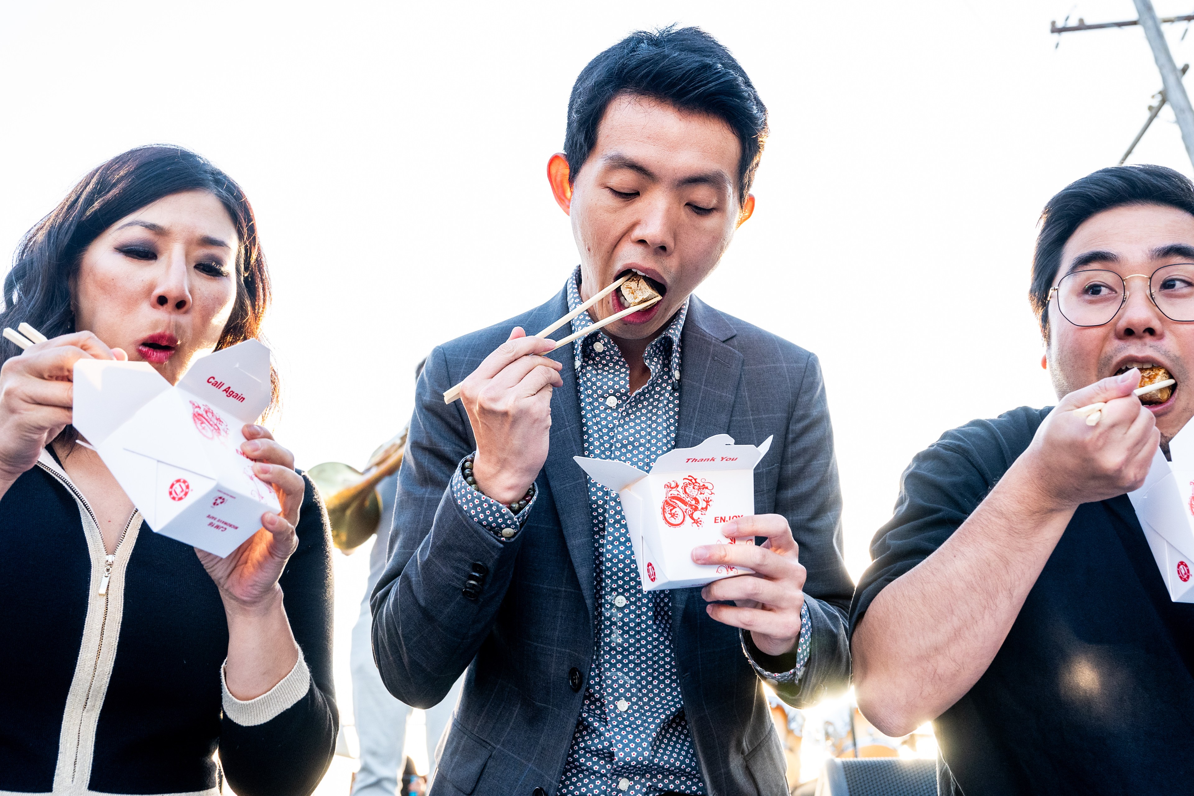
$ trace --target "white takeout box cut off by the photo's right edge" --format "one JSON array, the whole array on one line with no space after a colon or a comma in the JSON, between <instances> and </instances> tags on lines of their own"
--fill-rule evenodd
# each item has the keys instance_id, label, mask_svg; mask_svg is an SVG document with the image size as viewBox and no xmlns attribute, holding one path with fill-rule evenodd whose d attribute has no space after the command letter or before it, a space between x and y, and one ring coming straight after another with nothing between
<instances>
[{"instance_id":1,"label":"white takeout box cut off by the photo's right edge","mask_svg":"<svg viewBox=\"0 0 1194 796\"><path fill-rule=\"evenodd\" d=\"M1144 486L1127 493L1152 557L1175 603L1194 603L1194 431L1187 424L1169 440L1169 455L1157 449Z\"/></svg>"}]
</instances>

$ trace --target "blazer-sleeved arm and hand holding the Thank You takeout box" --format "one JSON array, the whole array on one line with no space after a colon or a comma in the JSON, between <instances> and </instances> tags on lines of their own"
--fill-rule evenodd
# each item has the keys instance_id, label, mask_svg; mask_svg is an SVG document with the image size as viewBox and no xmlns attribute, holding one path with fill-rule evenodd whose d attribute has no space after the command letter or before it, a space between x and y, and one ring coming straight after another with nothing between
<instances>
[{"instance_id":1,"label":"blazer-sleeved arm and hand holding the Thank You takeout box","mask_svg":"<svg viewBox=\"0 0 1194 796\"><path fill-rule=\"evenodd\" d=\"M708 551L709 563L755 570L714 581L702 596L710 601L736 601L734 606L710 605L709 615L744 629L744 649L756 672L784 702L800 706L849 686L847 610L854 584L842 560L833 430L814 356L808 354L792 394L788 432L782 446L776 445L781 464L774 513L728 523L722 531L737 537L767 536L764 548L697 550Z\"/></svg>"}]
</instances>

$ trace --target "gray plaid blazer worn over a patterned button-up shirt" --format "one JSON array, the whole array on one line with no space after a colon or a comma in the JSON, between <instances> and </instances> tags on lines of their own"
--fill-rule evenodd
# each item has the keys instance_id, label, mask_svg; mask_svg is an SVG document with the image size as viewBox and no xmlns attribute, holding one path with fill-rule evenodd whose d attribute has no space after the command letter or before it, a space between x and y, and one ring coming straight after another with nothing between
<instances>
[{"instance_id":1,"label":"gray plaid blazer worn over a patterned button-up shirt","mask_svg":"<svg viewBox=\"0 0 1194 796\"><path fill-rule=\"evenodd\" d=\"M373 594L373 646L386 686L411 705L438 703L468 669L433 796L554 794L580 715L593 662L595 551L586 476L572 461L584 452L572 346L560 350L567 366L552 395L538 500L512 542L473 523L447 489L475 440L460 402L443 401L513 326L541 329L566 311L561 291L438 346L418 382L389 562ZM849 681L854 586L842 560L842 499L817 358L695 296L682 345L677 448L718 433L750 444L775 434L755 471L755 510L788 518L812 598L807 671L800 685L776 690L798 706L819 701ZM464 588L470 579L480 581L479 596ZM783 752L738 630L709 618L698 588L672 592L672 646L709 795L787 794Z\"/></svg>"}]
</instances>

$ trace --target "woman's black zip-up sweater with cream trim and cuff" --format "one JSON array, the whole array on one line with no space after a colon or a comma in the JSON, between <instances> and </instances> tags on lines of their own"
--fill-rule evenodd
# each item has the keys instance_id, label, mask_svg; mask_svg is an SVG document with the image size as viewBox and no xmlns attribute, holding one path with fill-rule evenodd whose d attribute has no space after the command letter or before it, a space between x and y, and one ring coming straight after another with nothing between
<instances>
[{"instance_id":1,"label":"woman's black zip-up sweater with cream trim and cuff","mask_svg":"<svg viewBox=\"0 0 1194 796\"><path fill-rule=\"evenodd\" d=\"M241 702L228 624L195 549L134 513L111 556L43 451L0 499L0 796L312 792L332 759L332 563L310 480L282 574L298 662ZM220 763L214 759L219 751Z\"/></svg>"}]
</instances>

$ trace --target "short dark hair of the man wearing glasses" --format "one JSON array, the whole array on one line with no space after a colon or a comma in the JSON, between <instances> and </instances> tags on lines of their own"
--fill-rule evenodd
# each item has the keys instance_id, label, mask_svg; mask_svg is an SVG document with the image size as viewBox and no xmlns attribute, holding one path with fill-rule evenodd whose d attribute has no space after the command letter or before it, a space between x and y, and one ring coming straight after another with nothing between
<instances>
[{"instance_id":1,"label":"short dark hair of the man wearing glasses","mask_svg":"<svg viewBox=\"0 0 1194 796\"><path fill-rule=\"evenodd\" d=\"M1061 249L1087 218L1126 205L1159 204L1194 216L1194 183L1164 166L1112 166L1070 183L1041 211L1028 301L1048 339L1048 297Z\"/></svg>"}]
</instances>

